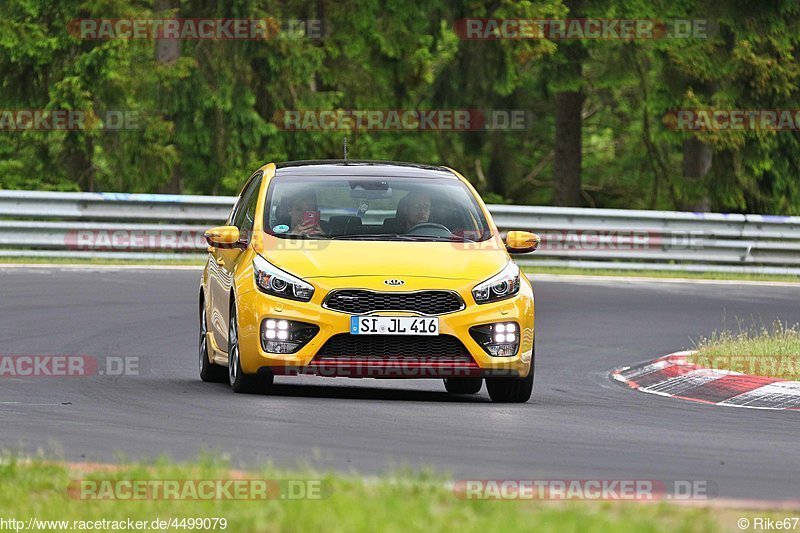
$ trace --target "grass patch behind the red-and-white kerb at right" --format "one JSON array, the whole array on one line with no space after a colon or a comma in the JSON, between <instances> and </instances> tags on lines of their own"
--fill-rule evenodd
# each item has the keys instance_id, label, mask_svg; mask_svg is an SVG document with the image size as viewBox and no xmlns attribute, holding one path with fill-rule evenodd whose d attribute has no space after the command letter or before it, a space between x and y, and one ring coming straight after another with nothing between
<instances>
[{"instance_id":1,"label":"grass patch behind the red-and-white kerb at right","mask_svg":"<svg viewBox=\"0 0 800 533\"><path fill-rule=\"evenodd\" d=\"M703 367L800 380L800 324L744 328L740 323L738 332L715 332L696 349L690 360Z\"/></svg>"}]
</instances>

